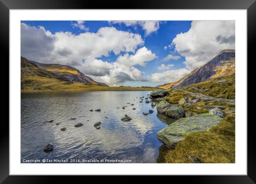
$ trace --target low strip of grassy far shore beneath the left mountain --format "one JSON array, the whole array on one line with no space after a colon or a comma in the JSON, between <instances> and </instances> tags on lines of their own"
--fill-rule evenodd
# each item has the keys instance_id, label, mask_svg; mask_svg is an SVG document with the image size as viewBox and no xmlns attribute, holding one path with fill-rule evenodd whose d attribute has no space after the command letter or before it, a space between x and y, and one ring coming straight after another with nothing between
<instances>
[{"instance_id":1,"label":"low strip of grassy far shore beneath the left mountain","mask_svg":"<svg viewBox=\"0 0 256 184\"><path fill-rule=\"evenodd\" d=\"M35 90L34 90L35 89ZM81 82L51 82L40 86L24 87L21 92L44 91L153 91L157 88L150 87L108 87L101 85L87 85Z\"/></svg>"}]
</instances>

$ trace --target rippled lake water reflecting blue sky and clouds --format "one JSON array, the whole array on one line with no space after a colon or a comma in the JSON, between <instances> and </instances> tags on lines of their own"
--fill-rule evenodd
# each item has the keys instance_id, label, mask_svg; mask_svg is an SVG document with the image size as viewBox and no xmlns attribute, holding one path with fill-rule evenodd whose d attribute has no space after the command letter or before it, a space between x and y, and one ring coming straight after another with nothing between
<instances>
[{"instance_id":1,"label":"rippled lake water reflecting blue sky and clouds","mask_svg":"<svg viewBox=\"0 0 256 184\"><path fill-rule=\"evenodd\" d=\"M132 163L156 163L163 144L157 139L157 132L174 119L158 114L150 99L151 103L145 103L149 93L22 93L21 163L24 163L23 159L69 159L69 162L70 159L80 159L81 163L83 159L117 159L131 160ZM139 103L139 97L143 96L143 103ZM134 106L131 106L132 103ZM127 107L122 109L123 106ZM90 112L90 109L101 111ZM148 113L149 109L154 112L147 116L142 114ZM121 121L125 114L132 120ZM48 119L54 122L44 123ZM97 122L101 122L100 129L93 126ZM74 127L78 123L83 123L83 126ZM60 131L64 127L67 130ZM45 153L43 148L48 143L54 145L54 150Z\"/></svg>"}]
</instances>

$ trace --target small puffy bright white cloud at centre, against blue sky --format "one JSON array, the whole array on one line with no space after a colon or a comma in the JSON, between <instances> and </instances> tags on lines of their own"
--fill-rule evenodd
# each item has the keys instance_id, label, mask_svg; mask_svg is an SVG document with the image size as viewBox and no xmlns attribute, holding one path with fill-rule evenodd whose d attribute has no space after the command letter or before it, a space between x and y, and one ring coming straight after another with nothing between
<instances>
[{"instance_id":1,"label":"small puffy bright white cloud at centre, against blue sky","mask_svg":"<svg viewBox=\"0 0 256 184\"><path fill-rule=\"evenodd\" d=\"M123 56L120 55L117 58L117 62L125 66L141 65L145 66L147 61L151 61L156 58L156 54L152 53L146 47L139 48L134 55L125 53Z\"/></svg>"}]
</instances>

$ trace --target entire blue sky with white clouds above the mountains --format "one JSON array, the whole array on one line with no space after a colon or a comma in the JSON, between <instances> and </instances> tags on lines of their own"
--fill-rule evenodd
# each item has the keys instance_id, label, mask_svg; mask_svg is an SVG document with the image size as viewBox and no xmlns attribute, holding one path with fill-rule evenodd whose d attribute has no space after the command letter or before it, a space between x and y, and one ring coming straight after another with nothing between
<instances>
[{"instance_id":1,"label":"entire blue sky with white clouds above the mountains","mask_svg":"<svg viewBox=\"0 0 256 184\"><path fill-rule=\"evenodd\" d=\"M21 21L21 56L109 86L175 82L224 49L235 21Z\"/></svg>"}]
</instances>

